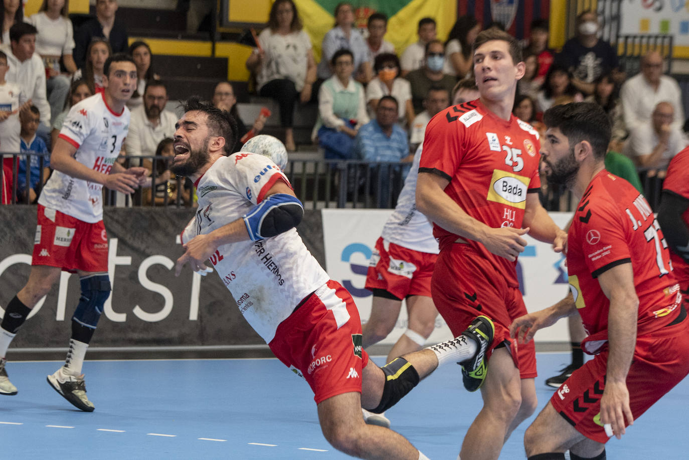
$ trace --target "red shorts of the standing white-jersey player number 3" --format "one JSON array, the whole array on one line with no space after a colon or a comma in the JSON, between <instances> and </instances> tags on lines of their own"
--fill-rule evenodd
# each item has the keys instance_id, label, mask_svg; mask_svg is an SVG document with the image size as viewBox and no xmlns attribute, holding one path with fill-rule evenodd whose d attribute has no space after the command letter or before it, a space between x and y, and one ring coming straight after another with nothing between
<instances>
[{"instance_id":1,"label":"red shorts of the standing white-jersey player number 3","mask_svg":"<svg viewBox=\"0 0 689 460\"><path fill-rule=\"evenodd\" d=\"M103 221L80 221L39 204L31 265L60 267L68 272L107 272Z\"/></svg>"}]
</instances>

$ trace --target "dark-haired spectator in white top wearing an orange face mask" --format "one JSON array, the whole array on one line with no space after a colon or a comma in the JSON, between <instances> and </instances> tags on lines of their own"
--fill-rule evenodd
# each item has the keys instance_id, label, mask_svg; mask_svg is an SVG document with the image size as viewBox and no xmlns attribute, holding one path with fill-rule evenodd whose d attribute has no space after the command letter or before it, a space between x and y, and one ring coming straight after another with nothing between
<instances>
[{"instance_id":1,"label":"dark-haired spectator in white top wearing an orange face mask","mask_svg":"<svg viewBox=\"0 0 689 460\"><path fill-rule=\"evenodd\" d=\"M414 121L414 107L411 105L411 83L400 77L400 69L400 59L395 54L378 54L373 64L376 78L369 81L366 87L366 101L369 117L376 118L376 108L381 97L392 96L397 99L398 123L406 129Z\"/></svg>"}]
</instances>

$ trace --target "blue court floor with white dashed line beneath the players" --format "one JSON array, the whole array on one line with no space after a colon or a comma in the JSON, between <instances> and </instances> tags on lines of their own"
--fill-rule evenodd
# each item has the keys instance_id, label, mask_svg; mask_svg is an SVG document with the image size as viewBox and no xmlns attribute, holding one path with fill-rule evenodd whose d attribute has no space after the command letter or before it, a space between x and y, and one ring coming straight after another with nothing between
<instances>
[{"instance_id":1,"label":"blue court floor with white dashed line beneath the players","mask_svg":"<svg viewBox=\"0 0 689 460\"><path fill-rule=\"evenodd\" d=\"M376 358L380 363L382 358ZM544 386L567 354L538 354ZM19 394L0 397L0 459L346 459L323 439L311 390L276 359L88 361L95 412L73 408L45 381L61 362L10 362ZM444 366L387 412L392 428L433 460L455 460L480 410L457 366ZM608 459L687 459L689 382L683 381L618 441ZM524 459L515 430L500 459Z\"/></svg>"}]
</instances>

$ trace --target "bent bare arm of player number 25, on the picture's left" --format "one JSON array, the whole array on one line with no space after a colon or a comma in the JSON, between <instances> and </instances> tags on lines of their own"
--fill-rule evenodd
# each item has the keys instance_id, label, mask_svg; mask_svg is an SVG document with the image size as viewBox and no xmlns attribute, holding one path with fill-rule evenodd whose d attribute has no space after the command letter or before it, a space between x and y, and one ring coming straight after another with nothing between
<instances>
[{"instance_id":1,"label":"bent bare arm of player number 25, on the picture's left","mask_svg":"<svg viewBox=\"0 0 689 460\"><path fill-rule=\"evenodd\" d=\"M478 241L486 249L509 261L524 251L521 237L528 228L492 228L466 214L445 192L449 181L432 172L419 172L416 183L416 207L430 221L460 237Z\"/></svg>"}]
</instances>

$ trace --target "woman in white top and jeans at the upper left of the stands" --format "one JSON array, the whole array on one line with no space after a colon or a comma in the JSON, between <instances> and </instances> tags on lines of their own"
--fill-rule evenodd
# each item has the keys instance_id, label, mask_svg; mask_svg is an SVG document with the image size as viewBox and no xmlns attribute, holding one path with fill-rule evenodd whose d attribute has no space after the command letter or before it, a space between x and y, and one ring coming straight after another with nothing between
<instances>
[{"instance_id":1,"label":"woman in white top and jeans at the upper left of the stands","mask_svg":"<svg viewBox=\"0 0 689 460\"><path fill-rule=\"evenodd\" d=\"M74 31L72 21L68 18L68 0L43 0L41 9L28 19L39 33L36 36L36 52L43 59L45 74L48 77L45 89L50 103L51 121L65 106L65 99L70 90L68 75L76 72L72 57L74 50ZM67 70L60 71L60 60Z\"/></svg>"}]
</instances>

